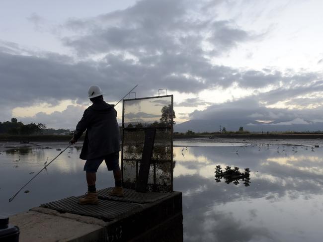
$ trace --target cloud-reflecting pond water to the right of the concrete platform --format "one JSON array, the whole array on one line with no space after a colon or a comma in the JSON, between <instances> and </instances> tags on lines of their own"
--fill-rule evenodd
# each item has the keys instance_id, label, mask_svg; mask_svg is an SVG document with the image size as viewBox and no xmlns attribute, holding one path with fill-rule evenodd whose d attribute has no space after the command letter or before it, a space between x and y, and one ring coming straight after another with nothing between
<instances>
[{"instance_id":1,"label":"cloud-reflecting pond water to the right of the concrete platform","mask_svg":"<svg viewBox=\"0 0 323 242\"><path fill-rule=\"evenodd\" d=\"M321 149L188 147L185 157L182 149L174 148L174 189L183 192L184 241L322 240ZM249 167L252 185L214 182L217 164Z\"/></svg>"}]
</instances>

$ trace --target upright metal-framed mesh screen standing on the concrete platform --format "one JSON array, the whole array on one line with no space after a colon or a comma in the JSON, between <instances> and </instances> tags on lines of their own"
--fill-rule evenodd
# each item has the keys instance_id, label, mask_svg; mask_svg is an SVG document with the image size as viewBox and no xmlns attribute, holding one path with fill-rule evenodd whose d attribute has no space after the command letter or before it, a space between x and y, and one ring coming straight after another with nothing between
<instances>
[{"instance_id":1,"label":"upright metal-framed mesh screen standing on the concrete platform","mask_svg":"<svg viewBox=\"0 0 323 242\"><path fill-rule=\"evenodd\" d=\"M171 192L173 166L173 95L124 99L123 186L142 191L144 184L149 191Z\"/></svg>"}]
</instances>

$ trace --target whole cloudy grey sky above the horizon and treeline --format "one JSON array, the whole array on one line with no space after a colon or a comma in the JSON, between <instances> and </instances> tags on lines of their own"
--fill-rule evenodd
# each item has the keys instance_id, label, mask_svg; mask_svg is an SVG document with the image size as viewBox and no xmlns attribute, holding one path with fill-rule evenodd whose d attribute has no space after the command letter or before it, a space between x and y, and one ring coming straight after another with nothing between
<instances>
[{"instance_id":1,"label":"whole cloudy grey sky above the horizon and treeline","mask_svg":"<svg viewBox=\"0 0 323 242\"><path fill-rule=\"evenodd\" d=\"M321 0L1 1L0 121L75 129L90 85L113 104L138 84L136 97L174 95L177 124L323 125L322 9Z\"/></svg>"}]
</instances>

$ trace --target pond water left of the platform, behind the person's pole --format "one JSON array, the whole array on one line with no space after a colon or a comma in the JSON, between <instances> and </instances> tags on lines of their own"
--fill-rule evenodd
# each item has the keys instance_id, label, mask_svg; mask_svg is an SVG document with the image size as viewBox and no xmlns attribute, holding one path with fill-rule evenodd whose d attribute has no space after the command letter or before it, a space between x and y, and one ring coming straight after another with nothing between
<instances>
[{"instance_id":1,"label":"pond water left of the platform, behind the person's pole","mask_svg":"<svg viewBox=\"0 0 323 242\"><path fill-rule=\"evenodd\" d=\"M64 146L66 144L62 145ZM29 190L29 193L22 191L11 203L8 202L23 184L44 167L47 157L50 161L60 153L56 148L14 148L1 152L3 155L0 156L0 216L13 215L42 203L68 196L79 196L86 192L84 161L79 159L81 151L69 148L23 189L23 191ZM112 173L101 165L98 170L98 189L113 185Z\"/></svg>"}]
</instances>

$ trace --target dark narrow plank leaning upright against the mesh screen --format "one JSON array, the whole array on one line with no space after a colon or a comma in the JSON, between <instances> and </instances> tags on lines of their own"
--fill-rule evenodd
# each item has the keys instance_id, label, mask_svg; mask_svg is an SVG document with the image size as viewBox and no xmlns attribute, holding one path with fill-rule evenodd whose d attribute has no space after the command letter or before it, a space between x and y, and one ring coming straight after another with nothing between
<instances>
[{"instance_id":1,"label":"dark narrow plank leaning upright against the mesh screen","mask_svg":"<svg viewBox=\"0 0 323 242\"><path fill-rule=\"evenodd\" d=\"M150 163L152 161L154 142L156 136L156 128L149 128L145 130L145 144L142 160L140 162L138 179L136 181L136 191L146 192L148 176L150 170Z\"/></svg>"}]
</instances>

